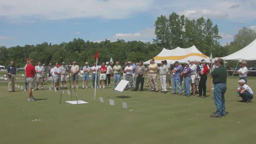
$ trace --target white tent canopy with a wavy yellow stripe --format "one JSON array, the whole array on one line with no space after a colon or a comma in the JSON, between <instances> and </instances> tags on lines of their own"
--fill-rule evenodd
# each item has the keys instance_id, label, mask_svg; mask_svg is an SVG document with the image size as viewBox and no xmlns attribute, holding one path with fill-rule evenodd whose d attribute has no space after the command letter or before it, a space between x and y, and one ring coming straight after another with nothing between
<instances>
[{"instance_id":1,"label":"white tent canopy with a wavy yellow stripe","mask_svg":"<svg viewBox=\"0 0 256 144\"><path fill-rule=\"evenodd\" d=\"M188 60L190 61L201 61L204 59L207 63L210 63L210 58L205 56L201 51L199 51L194 45L189 48L180 48L177 47L175 49L165 49L154 57L155 63L160 64L161 61L166 60L167 63L174 64L175 61L179 63L185 63ZM150 60L144 62L144 64L150 64Z\"/></svg>"}]
</instances>

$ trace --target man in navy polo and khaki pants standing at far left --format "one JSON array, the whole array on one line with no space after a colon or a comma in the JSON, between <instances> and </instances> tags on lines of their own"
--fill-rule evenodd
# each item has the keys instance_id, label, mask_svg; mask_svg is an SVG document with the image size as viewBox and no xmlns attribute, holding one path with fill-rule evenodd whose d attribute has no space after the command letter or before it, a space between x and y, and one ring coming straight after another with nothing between
<instances>
[{"instance_id":1,"label":"man in navy polo and khaki pants standing at far left","mask_svg":"<svg viewBox=\"0 0 256 144\"><path fill-rule=\"evenodd\" d=\"M7 74L8 77L8 91L9 93L15 92L15 79L16 79L16 67L13 65L13 61L11 61L10 65L7 67Z\"/></svg>"}]
</instances>

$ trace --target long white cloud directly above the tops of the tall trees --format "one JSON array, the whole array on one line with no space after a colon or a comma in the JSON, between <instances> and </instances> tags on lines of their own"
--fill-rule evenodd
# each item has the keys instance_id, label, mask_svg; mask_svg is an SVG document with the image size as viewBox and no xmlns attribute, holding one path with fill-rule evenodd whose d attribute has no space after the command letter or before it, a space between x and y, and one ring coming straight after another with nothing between
<instances>
[{"instance_id":1,"label":"long white cloud directly above the tops of the tall trees","mask_svg":"<svg viewBox=\"0 0 256 144\"><path fill-rule=\"evenodd\" d=\"M223 13L221 11L211 11L208 9L204 9L202 11L195 11L195 10L184 10L180 12L179 14L184 14L187 18L189 19L196 19L198 17L206 17L206 18L213 18L213 19L218 19L218 18L225 18L228 17L227 13Z\"/></svg>"}]
</instances>

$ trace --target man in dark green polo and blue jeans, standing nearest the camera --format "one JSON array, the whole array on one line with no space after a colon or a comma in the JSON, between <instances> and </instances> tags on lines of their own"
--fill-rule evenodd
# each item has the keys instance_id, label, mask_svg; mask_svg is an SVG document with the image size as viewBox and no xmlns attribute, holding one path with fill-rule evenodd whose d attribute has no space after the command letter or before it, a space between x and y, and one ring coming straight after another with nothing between
<instances>
[{"instance_id":1,"label":"man in dark green polo and blue jeans, standing nearest the camera","mask_svg":"<svg viewBox=\"0 0 256 144\"><path fill-rule=\"evenodd\" d=\"M218 68L215 68L210 75L210 78L213 78L214 103L216 105L216 113L211 117L217 118L226 114L224 94L227 90L227 69L223 66L223 63L223 59L218 59Z\"/></svg>"}]
</instances>

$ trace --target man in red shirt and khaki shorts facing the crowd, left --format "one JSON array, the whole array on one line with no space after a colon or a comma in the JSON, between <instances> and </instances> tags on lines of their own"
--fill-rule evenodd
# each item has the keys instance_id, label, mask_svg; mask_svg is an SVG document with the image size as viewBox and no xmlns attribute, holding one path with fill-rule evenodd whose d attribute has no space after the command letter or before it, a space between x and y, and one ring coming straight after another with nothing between
<instances>
[{"instance_id":1,"label":"man in red shirt and khaki shorts facing the crowd, left","mask_svg":"<svg viewBox=\"0 0 256 144\"><path fill-rule=\"evenodd\" d=\"M32 88L35 87L35 74L36 69L33 66L34 60L29 61L29 65L26 67L26 76L27 76L27 83L29 86L28 90L28 101L35 101L35 98L32 95Z\"/></svg>"}]
</instances>

